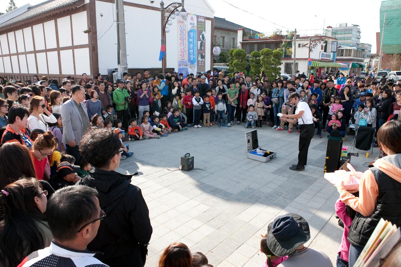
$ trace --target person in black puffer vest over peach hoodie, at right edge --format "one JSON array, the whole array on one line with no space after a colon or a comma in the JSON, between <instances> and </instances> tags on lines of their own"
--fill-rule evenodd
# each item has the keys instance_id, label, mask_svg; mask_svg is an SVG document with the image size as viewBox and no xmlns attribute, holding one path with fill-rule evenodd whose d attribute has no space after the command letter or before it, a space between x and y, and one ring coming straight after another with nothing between
<instances>
[{"instance_id":1,"label":"person in black puffer vest over peach hoodie, at right edge","mask_svg":"<svg viewBox=\"0 0 401 267\"><path fill-rule=\"evenodd\" d=\"M349 266L365 247L380 218L401 225L401 121L388 121L377 132L377 142L387 156L376 160L364 172L359 197L336 185L341 201L356 211L348 232Z\"/></svg>"}]
</instances>

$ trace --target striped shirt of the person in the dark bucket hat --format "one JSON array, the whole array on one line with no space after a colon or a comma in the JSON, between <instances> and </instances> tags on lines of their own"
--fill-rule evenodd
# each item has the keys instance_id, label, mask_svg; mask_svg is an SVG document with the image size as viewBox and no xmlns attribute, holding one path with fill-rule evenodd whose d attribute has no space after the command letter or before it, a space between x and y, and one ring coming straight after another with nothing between
<instances>
[{"instance_id":1,"label":"striped shirt of the person in the dark bucket hat","mask_svg":"<svg viewBox=\"0 0 401 267\"><path fill-rule=\"evenodd\" d=\"M333 264L323 251L307 248L304 251L292 253L277 267L333 267Z\"/></svg>"}]
</instances>

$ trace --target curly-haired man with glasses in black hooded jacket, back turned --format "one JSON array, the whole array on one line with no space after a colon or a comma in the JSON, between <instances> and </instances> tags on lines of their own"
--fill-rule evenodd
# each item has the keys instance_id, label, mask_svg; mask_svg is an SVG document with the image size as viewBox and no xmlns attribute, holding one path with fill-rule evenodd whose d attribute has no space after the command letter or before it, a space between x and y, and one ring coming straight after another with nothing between
<instances>
[{"instance_id":1,"label":"curly-haired man with glasses in black hooded jacket, back turned","mask_svg":"<svg viewBox=\"0 0 401 267\"><path fill-rule=\"evenodd\" d=\"M108 129L91 129L79 147L85 159L95 167L78 184L96 188L100 208L107 214L95 239L88 245L110 267L145 265L147 246L152 236L149 210L133 175L115 171L121 160L121 141Z\"/></svg>"}]
</instances>

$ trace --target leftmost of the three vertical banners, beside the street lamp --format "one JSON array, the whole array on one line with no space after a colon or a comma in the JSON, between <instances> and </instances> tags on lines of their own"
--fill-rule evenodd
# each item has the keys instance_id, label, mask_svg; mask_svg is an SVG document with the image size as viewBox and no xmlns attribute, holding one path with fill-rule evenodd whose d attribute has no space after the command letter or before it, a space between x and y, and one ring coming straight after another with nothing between
<instances>
[{"instance_id":1,"label":"leftmost of the three vertical banners, beside the street lamp","mask_svg":"<svg viewBox=\"0 0 401 267\"><path fill-rule=\"evenodd\" d=\"M178 73L182 73L184 78L188 75L188 52L187 52L187 35L186 17L177 16L178 25Z\"/></svg>"}]
</instances>

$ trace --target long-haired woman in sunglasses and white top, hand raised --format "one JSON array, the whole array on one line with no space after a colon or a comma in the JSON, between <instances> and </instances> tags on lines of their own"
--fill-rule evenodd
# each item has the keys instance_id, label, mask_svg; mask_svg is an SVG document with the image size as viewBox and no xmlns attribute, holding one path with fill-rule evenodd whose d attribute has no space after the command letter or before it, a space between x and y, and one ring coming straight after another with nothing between
<instances>
[{"instance_id":1,"label":"long-haired woman in sunglasses and white top, hand raised","mask_svg":"<svg viewBox=\"0 0 401 267\"><path fill-rule=\"evenodd\" d=\"M49 110L47 110L45 99L40 96L34 96L30 99L29 113L30 116L28 117L28 129L30 131L34 129L42 129L43 131L47 131L49 129L47 122L57 122L56 117L53 116ZM43 113L46 113L46 115Z\"/></svg>"}]
</instances>

